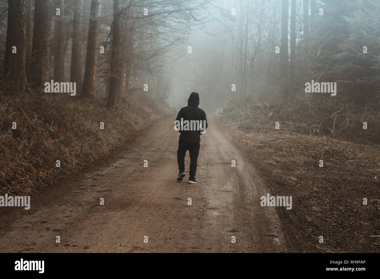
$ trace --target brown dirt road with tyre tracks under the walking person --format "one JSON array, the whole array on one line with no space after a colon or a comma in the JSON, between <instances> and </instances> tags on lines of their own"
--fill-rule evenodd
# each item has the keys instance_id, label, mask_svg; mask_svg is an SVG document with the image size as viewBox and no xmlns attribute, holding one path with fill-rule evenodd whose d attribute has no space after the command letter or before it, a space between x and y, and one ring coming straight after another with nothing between
<instances>
[{"instance_id":1,"label":"brown dirt road with tyre tracks under the walking person","mask_svg":"<svg viewBox=\"0 0 380 279\"><path fill-rule=\"evenodd\" d=\"M252 158L216 117L201 136L198 183L187 183L188 153L186 177L176 181L174 118L146 129L124 153L32 195L30 210L2 207L0 252L289 251L275 207L260 206L269 192Z\"/></svg>"}]
</instances>

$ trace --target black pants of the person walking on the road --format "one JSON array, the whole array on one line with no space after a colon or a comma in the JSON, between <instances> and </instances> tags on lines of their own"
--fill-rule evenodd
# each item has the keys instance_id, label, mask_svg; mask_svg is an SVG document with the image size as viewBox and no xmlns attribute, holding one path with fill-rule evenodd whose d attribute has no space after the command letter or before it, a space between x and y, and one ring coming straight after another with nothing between
<instances>
[{"instance_id":1,"label":"black pants of the person walking on the road","mask_svg":"<svg viewBox=\"0 0 380 279\"><path fill-rule=\"evenodd\" d=\"M177 162L180 173L185 172L185 155L188 150L190 155L189 175L190 177L195 177L196 163L198 160L200 146L201 145L199 142L185 142L183 140L178 141Z\"/></svg>"}]
</instances>

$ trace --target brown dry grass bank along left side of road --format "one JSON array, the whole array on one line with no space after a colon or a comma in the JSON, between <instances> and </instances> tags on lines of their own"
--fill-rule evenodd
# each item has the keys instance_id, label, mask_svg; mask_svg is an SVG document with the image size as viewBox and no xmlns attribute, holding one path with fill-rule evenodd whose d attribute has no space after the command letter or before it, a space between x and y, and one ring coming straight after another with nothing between
<instances>
[{"instance_id":1,"label":"brown dry grass bank along left side of road","mask_svg":"<svg viewBox=\"0 0 380 279\"><path fill-rule=\"evenodd\" d=\"M105 99L59 94L0 93L0 100L0 194L27 194L47 178L89 164L122 147L166 109L152 101L149 107L146 97L116 109L107 109Z\"/></svg>"}]
</instances>

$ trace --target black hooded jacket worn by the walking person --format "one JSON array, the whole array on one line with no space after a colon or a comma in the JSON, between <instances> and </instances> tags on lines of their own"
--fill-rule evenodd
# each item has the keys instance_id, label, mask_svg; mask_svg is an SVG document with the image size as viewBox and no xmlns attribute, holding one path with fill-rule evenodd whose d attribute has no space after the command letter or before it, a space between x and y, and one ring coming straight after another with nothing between
<instances>
[{"instance_id":1,"label":"black hooded jacket worn by the walking person","mask_svg":"<svg viewBox=\"0 0 380 279\"><path fill-rule=\"evenodd\" d=\"M185 120L191 121L191 120L198 120L199 123L202 123L202 127L204 127L203 123L206 123L207 128L207 118L206 113L203 109L200 109L198 107L199 105L199 94L196 92L192 92L190 94L190 97L187 100L187 107L182 107L182 109L179 110L176 120L181 122L181 118L183 118L183 125L179 126L179 132L181 133L179 136L180 140L184 140L185 142L200 142L201 141L201 130L193 130L193 131L184 131L183 128L186 128ZM203 122L206 121L206 122ZM177 122L178 123L178 122ZM190 125L191 126L191 125ZM194 126L193 126L194 127ZM192 127L192 128L193 128ZM206 130L204 129L203 132Z\"/></svg>"}]
</instances>

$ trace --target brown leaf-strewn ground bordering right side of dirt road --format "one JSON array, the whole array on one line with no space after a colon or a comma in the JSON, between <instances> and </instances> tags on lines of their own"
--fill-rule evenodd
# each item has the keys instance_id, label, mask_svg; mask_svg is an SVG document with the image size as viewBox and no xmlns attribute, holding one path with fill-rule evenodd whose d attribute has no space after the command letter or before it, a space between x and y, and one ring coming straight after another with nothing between
<instances>
[{"instance_id":1,"label":"brown leaf-strewn ground bordering right side of dirt road","mask_svg":"<svg viewBox=\"0 0 380 279\"><path fill-rule=\"evenodd\" d=\"M293 197L291 210L277 212L285 240L299 252L380 251L380 148L274 125L256 132L224 126L258 166L271 194Z\"/></svg>"}]
</instances>

